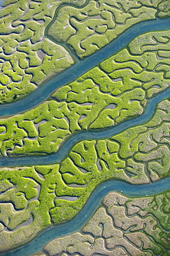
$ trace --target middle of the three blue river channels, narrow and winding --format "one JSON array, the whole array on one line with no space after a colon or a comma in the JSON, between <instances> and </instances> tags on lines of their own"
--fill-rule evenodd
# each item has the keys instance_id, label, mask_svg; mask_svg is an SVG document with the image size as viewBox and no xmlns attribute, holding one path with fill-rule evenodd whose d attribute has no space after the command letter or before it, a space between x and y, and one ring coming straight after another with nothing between
<instances>
[{"instance_id":1,"label":"middle of the three blue river channels, narrow and winding","mask_svg":"<svg viewBox=\"0 0 170 256\"><path fill-rule=\"evenodd\" d=\"M14 166L25 166L25 165L50 165L53 163L59 163L67 156L70 149L81 140L99 140L109 138L120 132L134 127L136 125L142 125L148 122L154 115L156 111L156 105L158 102L168 98L170 96L170 87L157 94L155 97L148 100L145 113L137 118L132 118L130 120L125 120L119 125L109 127L108 129L99 129L96 131L79 131L77 134L70 136L65 143L61 145L60 149L55 154L50 154L47 156L13 156L13 157L0 157L0 167L14 167ZM31 159L31 162L30 162Z\"/></svg>"}]
</instances>

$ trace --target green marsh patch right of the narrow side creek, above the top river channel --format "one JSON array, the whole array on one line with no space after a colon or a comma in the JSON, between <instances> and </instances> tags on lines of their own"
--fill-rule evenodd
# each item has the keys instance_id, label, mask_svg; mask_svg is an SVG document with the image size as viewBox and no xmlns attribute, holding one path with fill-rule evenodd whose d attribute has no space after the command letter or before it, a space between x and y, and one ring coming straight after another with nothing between
<instances>
[{"instance_id":1,"label":"green marsh patch right of the narrow side creek, above the top river channel","mask_svg":"<svg viewBox=\"0 0 170 256\"><path fill-rule=\"evenodd\" d=\"M169 0L89 0L87 6L63 6L47 34L83 58L98 51L141 21L170 15Z\"/></svg>"}]
</instances>

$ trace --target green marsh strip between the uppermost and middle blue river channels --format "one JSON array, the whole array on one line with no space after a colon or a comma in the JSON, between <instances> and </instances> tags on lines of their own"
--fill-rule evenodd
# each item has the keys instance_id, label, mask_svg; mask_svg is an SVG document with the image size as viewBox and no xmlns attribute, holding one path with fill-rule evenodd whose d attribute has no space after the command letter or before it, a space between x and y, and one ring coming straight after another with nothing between
<instances>
[{"instance_id":1,"label":"green marsh strip between the uppermost and middle blue river channels","mask_svg":"<svg viewBox=\"0 0 170 256\"><path fill-rule=\"evenodd\" d=\"M52 154L77 131L110 127L142 114L147 99L170 84L169 38L169 30L136 37L127 48L57 89L52 100L1 120L1 155Z\"/></svg>"}]
</instances>

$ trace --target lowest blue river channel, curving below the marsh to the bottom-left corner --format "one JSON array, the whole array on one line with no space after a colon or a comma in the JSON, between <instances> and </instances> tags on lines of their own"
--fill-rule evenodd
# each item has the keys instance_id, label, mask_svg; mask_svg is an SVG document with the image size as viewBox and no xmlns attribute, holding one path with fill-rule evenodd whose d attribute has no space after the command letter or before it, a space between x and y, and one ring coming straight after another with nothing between
<instances>
[{"instance_id":1,"label":"lowest blue river channel, curving below the marsh to the bottom-left corner","mask_svg":"<svg viewBox=\"0 0 170 256\"><path fill-rule=\"evenodd\" d=\"M169 190L170 177L150 183L147 185L131 185L123 181L109 180L98 185L94 192L85 203L81 212L79 212L72 221L60 226L52 226L43 231L39 236L34 238L30 243L22 248L2 255L6 256L29 256L41 250L47 242L54 238L69 235L72 232L80 230L90 217L94 214L100 205L103 197L110 191L119 192L125 196L151 196Z\"/></svg>"}]
</instances>

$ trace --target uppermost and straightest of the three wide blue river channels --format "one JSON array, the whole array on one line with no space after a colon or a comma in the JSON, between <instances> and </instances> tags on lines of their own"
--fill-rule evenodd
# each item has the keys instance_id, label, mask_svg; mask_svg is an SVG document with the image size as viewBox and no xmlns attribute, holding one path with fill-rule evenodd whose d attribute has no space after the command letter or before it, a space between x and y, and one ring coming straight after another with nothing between
<instances>
[{"instance_id":1,"label":"uppermost and straightest of the three wide blue river channels","mask_svg":"<svg viewBox=\"0 0 170 256\"><path fill-rule=\"evenodd\" d=\"M1 105L0 116L12 116L36 107L38 104L49 98L52 92L57 88L72 82L80 75L83 75L83 73L98 65L98 63L107 59L111 55L114 55L127 46L127 44L129 44L129 42L138 35L149 31L167 29L170 29L170 18L143 21L140 24L131 26L131 28L127 29L122 35L115 39L114 42L111 42L104 48L100 49L97 53L94 53L85 60L74 64L60 75L57 75L51 80L45 82L41 87L39 87L39 89L36 89L33 93L28 95L28 97L12 104Z\"/></svg>"}]
</instances>

